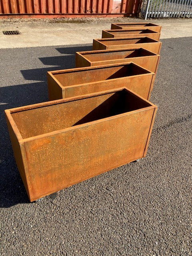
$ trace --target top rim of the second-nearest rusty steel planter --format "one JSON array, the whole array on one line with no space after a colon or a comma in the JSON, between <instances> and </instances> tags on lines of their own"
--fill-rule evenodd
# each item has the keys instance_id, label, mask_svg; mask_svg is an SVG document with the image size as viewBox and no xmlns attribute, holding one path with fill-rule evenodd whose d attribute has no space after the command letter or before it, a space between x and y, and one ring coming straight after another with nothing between
<instances>
[{"instance_id":1,"label":"top rim of the second-nearest rusty steel planter","mask_svg":"<svg viewBox=\"0 0 192 256\"><path fill-rule=\"evenodd\" d=\"M84 84L72 84L72 85L68 85L68 86L63 86L58 79L54 76L54 74L60 74L60 73L68 73L68 72L79 72L79 71L84 71L84 70L93 70L93 69L101 69L101 68L110 68L110 67L114 67L114 66L127 66L133 64L134 66L137 66L139 68L141 68L142 70L146 70L148 73L146 74L140 74L140 75L132 75L132 77L135 76L149 76L151 74L155 74L154 72L151 72L150 70L147 70L146 68L143 68L142 66L135 64L134 62L123 62L123 63L118 63L118 64L106 64L106 65L98 65L98 66L89 66L89 67L82 67L82 68L69 68L69 69L63 69L63 70L53 70L53 71L48 71L47 73L57 82L57 84L61 87L61 88L73 88L76 86L84 86L87 84L90 84L90 82L88 83L84 83ZM119 77L119 78L112 78L110 79L111 81L116 81L116 80L122 80L125 77L128 76L124 76L124 77ZM108 82L108 80L102 80L104 83ZM96 82L91 82L92 84L97 84L98 81Z\"/></svg>"}]
</instances>

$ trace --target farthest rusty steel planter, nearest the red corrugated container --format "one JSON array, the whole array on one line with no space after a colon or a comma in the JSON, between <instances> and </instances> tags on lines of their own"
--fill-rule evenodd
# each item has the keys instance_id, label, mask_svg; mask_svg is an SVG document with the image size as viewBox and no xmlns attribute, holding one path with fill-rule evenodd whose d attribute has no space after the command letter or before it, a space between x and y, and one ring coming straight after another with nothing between
<instances>
[{"instance_id":1,"label":"farthest rusty steel planter, nearest the red corrugated container","mask_svg":"<svg viewBox=\"0 0 192 256\"><path fill-rule=\"evenodd\" d=\"M128 29L128 28L130 28L130 29L132 29L132 28L138 28L138 29L148 28L148 29L153 30L158 33L161 32L161 26L150 23L150 22L112 23L111 24L111 29Z\"/></svg>"}]
</instances>

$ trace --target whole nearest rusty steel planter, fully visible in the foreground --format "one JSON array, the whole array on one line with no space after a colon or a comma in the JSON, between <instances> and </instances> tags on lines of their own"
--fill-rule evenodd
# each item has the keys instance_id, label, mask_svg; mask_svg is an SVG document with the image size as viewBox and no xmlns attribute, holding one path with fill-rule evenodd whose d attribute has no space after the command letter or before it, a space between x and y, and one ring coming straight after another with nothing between
<instances>
[{"instance_id":1,"label":"whole nearest rusty steel planter, fully visible in the foreground","mask_svg":"<svg viewBox=\"0 0 192 256\"><path fill-rule=\"evenodd\" d=\"M156 109L121 89L5 110L30 201L146 156Z\"/></svg>"}]
</instances>

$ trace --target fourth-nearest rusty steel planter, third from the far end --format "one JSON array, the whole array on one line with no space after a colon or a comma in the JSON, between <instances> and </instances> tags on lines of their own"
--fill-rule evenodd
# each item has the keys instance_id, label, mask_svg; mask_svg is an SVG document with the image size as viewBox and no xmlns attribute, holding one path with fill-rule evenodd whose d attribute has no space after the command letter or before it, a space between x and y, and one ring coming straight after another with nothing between
<instances>
[{"instance_id":1,"label":"fourth-nearest rusty steel planter, third from the far end","mask_svg":"<svg viewBox=\"0 0 192 256\"><path fill-rule=\"evenodd\" d=\"M93 50L132 49L142 47L150 52L160 54L161 42L148 37L135 38L100 38L93 40Z\"/></svg>"}]
</instances>

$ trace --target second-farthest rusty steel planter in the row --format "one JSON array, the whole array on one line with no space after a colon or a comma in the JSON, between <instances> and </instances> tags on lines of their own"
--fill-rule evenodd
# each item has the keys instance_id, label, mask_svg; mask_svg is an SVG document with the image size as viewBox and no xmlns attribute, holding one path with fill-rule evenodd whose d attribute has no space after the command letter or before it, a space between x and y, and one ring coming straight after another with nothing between
<instances>
[{"instance_id":1,"label":"second-farthest rusty steel planter in the row","mask_svg":"<svg viewBox=\"0 0 192 256\"><path fill-rule=\"evenodd\" d=\"M147 36L149 38L159 40L160 33L149 29L118 29L118 30L102 30L102 38L129 38L138 36Z\"/></svg>"}]
</instances>

